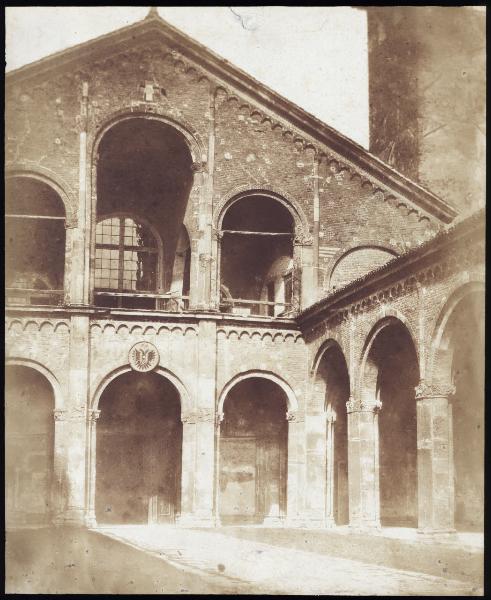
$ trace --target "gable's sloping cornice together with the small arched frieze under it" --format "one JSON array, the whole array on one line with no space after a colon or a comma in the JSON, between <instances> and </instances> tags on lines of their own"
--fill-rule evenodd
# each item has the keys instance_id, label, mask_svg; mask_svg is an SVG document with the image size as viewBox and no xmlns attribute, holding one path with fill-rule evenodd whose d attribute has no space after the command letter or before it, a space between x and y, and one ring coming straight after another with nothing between
<instances>
[{"instance_id":1,"label":"gable's sloping cornice together with the small arched frieze under it","mask_svg":"<svg viewBox=\"0 0 491 600\"><path fill-rule=\"evenodd\" d=\"M94 40L73 46L6 74L7 86L46 77L52 71L69 70L97 56L117 53L128 45L161 40L174 49L176 60L187 68L204 71L227 95L237 96L259 115L291 132L294 143L311 147L321 160L333 161L336 169L348 169L363 182L422 218L449 223L456 211L444 200L391 168L353 140L345 137L294 103L183 34L150 11L145 19ZM399 197L394 197L394 194Z\"/></svg>"}]
</instances>

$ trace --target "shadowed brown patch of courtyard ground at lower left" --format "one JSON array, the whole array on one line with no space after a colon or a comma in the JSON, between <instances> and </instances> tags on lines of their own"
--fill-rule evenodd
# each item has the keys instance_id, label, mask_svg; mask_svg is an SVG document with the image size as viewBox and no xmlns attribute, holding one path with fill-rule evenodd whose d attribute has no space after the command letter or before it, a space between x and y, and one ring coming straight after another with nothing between
<instances>
[{"instance_id":1,"label":"shadowed brown patch of courtyard ground at lower left","mask_svg":"<svg viewBox=\"0 0 491 600\"><path fill-rule=\"evenodd\" d=\"M5 591L20 594L232 594L249 586L176 568L81 529L7 532ZM252 593L252 592L251 592Z\"/></svg>"}]
</instances>

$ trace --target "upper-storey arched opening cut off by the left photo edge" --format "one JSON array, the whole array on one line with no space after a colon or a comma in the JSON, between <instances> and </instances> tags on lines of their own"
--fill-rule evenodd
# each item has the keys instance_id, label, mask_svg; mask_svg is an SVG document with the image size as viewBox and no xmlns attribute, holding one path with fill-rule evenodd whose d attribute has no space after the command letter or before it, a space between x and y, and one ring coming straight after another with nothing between
<instances>
[{"instance_id":1,"label":"upper-storey arched opening cut off by the left photo edge","mask_svg":"<svg viewBox=\"0 0 491 600\"><path fill-rule=\"evenodd\" d=\"M48 184L30 177L6 182L5 280L9 304L61 304L65 209Z\"/></svg>"}]
</instances>

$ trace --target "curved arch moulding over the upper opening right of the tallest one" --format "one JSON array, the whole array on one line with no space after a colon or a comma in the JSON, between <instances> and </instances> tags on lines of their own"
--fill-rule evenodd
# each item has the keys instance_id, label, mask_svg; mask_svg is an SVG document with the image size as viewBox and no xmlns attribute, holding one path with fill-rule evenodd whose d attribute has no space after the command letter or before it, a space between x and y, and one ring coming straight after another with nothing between
<instances>
[{"instance_id":1,"label":"curved arch moulding over the upper opening right of the tallest one","mask_svg":"<svg viewBox=\"0 0 491 600\"><path fill-rule=\"evenodd\" d=\"M250 196L265 196L267 198L271 198L272 200L276 200L278 203L283 205L292 216L295 225L295 235L297 237L303 237L307 235L309 231L307 217L296 200L294 200L289 194L272 188L254 188L246 184L234 187L230 192L222 197L218 207L214 211L213 227L218 231L221 230L222 221L228 209L239 200Z\"/></svg>"}]
</instances>

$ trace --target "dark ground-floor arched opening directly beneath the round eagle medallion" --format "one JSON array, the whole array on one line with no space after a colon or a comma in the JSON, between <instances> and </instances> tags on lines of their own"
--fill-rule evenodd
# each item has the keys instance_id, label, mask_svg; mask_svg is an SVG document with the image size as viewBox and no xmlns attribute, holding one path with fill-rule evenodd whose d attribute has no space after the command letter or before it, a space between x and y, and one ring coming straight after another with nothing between
<instances>
[{"instance_id":1,"label":"dark ground-floor arched opening directly beneath the round eagle medallion","mask_svg":"<svg viewBox=\"0 0 491 600\"><path fill-rule=\"evenodd\" d=\"M157 373L124 373L108 384L99 408L97 523L173 522L181 490L177 389Z\"/></svg>"}]
</instances>

